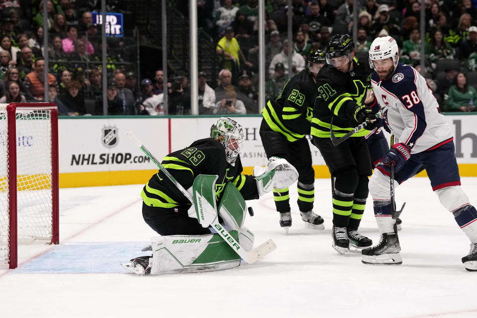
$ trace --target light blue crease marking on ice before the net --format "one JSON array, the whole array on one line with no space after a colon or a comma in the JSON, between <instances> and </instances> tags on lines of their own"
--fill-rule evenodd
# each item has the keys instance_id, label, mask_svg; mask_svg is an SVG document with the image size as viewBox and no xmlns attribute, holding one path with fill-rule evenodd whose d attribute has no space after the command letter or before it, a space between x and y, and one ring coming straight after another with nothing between
<instances>
[{"instance_id":1,"label":"light blue crease marking on ice before the net","mask_svg":"<svg viewBox=\"0 0 477 318\"><path fill-rule=\"evenodd\" d=\"M151 255L141 248L149 242L72 242L53 246L45 254L19 266L17 274L82 274L127 272L119 266L131 258Z\"/></svg>"}]
</instances>

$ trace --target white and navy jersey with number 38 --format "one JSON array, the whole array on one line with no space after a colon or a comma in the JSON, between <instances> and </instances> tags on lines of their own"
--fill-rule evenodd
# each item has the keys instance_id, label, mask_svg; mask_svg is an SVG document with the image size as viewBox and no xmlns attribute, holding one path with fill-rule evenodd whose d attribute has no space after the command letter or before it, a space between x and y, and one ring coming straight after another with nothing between
<instances>
[{"instance_id":1,"label":"white and navy jersey with number 38","mask_svg":"<svg viewBox=\"0 0 477 318\"><path fill-rule=\"evenodd\" d=\"M371 85L386 124L412 154L453 139L432 90L414 68L398 63L386 80L380 80L374 72Z\"/></svg>"}]
</instances>

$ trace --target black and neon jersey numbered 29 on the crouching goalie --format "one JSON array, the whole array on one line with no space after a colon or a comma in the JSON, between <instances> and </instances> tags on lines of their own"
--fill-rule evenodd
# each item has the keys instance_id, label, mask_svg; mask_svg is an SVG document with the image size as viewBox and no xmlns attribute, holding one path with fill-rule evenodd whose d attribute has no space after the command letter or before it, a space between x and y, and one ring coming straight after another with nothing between
<instances>
[{"instance_id":1,"label":"black and neon jersey numbered 29 on the crouching goalie","mask_svg":"<svg viewBox=\"0 0 477 318\"><path fill-rule=\"evenodd\" d=\"M212 138L197 140L189 147L167 155L162 160L162 166L184 189L189 189L199 174L217 174L217 201L220 200L227 182L233 182L245 200L258 199L258 189L253 176L240 174L240 156L237 157L235 165L231 165L226 160L224 146ZM141 191L141 197L149 206L170 208L185 215L191 206L189 200L161 170L149 179Z\"/></svg>"}]
</instances>

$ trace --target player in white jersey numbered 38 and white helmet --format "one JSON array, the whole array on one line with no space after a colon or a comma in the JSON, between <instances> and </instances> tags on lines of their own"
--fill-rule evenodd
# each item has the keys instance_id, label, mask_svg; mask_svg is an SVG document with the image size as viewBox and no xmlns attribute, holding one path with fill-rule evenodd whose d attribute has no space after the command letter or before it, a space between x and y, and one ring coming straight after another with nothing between
<instances>
[{"instance_id":1,"label":"player in white jersey numbered 38 and white helmet","mask_svg":"<svg viewBox=\"0 0 477 318\"><path fill-rule=\"evenodd\" d=\"M371 84L381 112L398 142L377 165L369 182L380 242L362 250L365 264L401 264L400 246L390 194L390 171L402 183L424 166L432 189L471 241L462 258L469 271L477 271L477 211L461 189L459 167L449 125L425 79L412 67L398 63L396 40L376 38L369 50L375 69Z\"/></svg>"}]
</instances>

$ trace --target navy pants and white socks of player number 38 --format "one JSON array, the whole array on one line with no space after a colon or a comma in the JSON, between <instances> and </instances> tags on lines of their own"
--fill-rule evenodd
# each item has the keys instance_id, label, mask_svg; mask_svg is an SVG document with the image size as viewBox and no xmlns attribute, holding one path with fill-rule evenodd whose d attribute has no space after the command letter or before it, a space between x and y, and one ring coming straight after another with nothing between
<instances>
[{"instance_id":1,"label":"navy pants and white socks of player number 38","mask_svg":"<svg viewBox=\"0 0 477 318\"><path fill-rule=\"evenodd\" d=\"M471 242L476 242L477 211L461 188L454 151L454 142L450 141L436 149L412 154L395 174L395 180L401 184L424 166L440 203L453 214L457 224ZM392 218L389 177L387 167L380 165L374 170L369 182L374 214L381 233L393 233L396 223Z\"/></svg>"}]
</instances>

